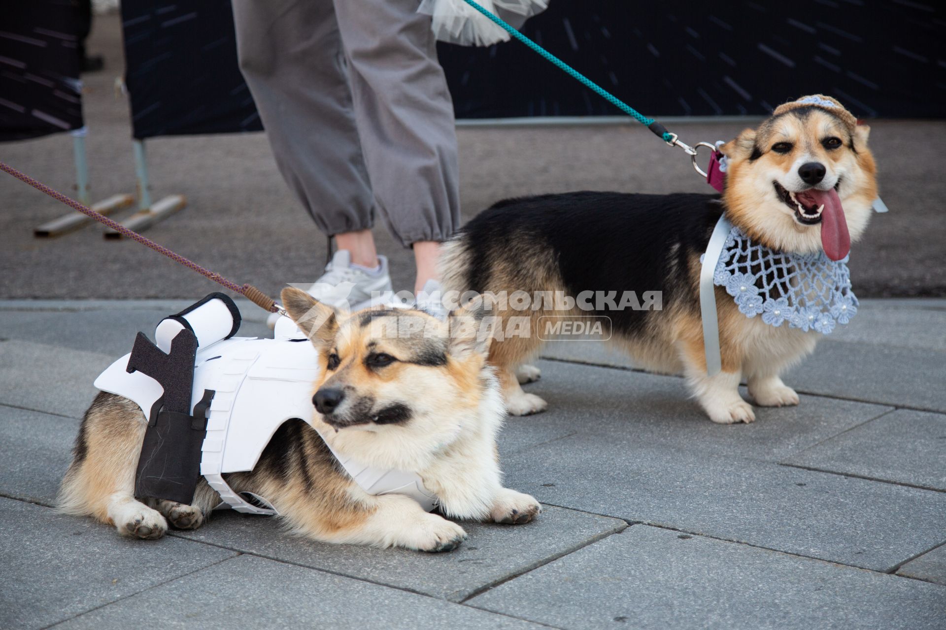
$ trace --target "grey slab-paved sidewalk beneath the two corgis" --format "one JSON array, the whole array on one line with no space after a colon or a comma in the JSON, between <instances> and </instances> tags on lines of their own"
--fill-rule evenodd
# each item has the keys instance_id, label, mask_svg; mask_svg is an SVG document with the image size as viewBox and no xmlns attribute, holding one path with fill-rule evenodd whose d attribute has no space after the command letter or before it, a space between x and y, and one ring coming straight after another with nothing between
<instances>
[{"instance_id":1,"label":"grey slab-paved sidewalk beneath the two corgis","mask_svg":"<svg viewBox=\"0 0 946 630\"><path fill-rule=\"evenodd\" d=\"M528 385L551 410L499 442L545 512L435 555L236 513L130 540L51 508L96 374L186 303L0 301L0 628L946 627L946 300L865 300L786 379L801 405L751 425L552 347Z\"/></svg>"}]
</instances>

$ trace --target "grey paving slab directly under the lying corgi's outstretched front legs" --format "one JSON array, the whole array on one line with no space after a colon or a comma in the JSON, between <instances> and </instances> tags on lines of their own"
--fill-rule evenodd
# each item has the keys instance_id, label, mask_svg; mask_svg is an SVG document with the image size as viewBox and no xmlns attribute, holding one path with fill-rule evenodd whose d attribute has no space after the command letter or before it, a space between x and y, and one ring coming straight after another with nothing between
<instances>
[{"instance_id":1,"label":"grey paving slab directly under the lying corgi's outstretched front legs","mask_svg":"<svg viewBox=\"0 0 946 630\"><path fill-rule=\"evenodd\" d=\"M469 539L456 551L433 555L318 543L283 533L272 519L236 513L221 514L199 530L177 535L460 601L626 527L620 519L559 507L549 507L527 525L462 524Z\"/></svg>"}]
</instances>

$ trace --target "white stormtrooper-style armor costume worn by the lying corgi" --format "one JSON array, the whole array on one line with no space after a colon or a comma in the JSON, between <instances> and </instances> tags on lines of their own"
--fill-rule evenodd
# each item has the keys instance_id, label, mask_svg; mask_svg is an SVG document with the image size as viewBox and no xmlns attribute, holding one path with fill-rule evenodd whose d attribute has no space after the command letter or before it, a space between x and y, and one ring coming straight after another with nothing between
<instances>
[{"instance_id":1,"label":"white stormtrooper-style armor costume worn by the lying corgi","mask_svg":"<svg viewBox=\"0 0 946 630\"><path fill-rule=\"evenodd\" d=\"M274 515L275 509L264 497L253 495L257 502L270 507L247 502L222 475L252 470L272 434L290 418L312 424L312 386L320 369L318 353L289 317L280 317L274 339L227 338L238 327L238 311L232 300L216 294L196 307L162 320L154 336L155 345L166 353L185 324L197 336L191 415L207 390L215 392L205 412L200 474L219 492L223 501L219 507L226 504L238 512ZM126 354L102 372L96 387L133 400L145 417L151 417L164 388L140 371L129 373L130 357L131 353ZM340 455L330 445L328 448L368 494L405 494L427 511L436 504L436 497L414 472L372 468Z\"/></svg>"}]
</instances>

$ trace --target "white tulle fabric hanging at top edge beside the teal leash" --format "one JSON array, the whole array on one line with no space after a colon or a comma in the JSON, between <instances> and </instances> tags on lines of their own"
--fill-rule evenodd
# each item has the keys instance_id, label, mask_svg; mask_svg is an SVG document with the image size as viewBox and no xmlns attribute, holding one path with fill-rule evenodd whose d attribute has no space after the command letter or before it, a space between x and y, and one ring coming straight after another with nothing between
<instances>
[{"instance_id":1,"label":"white tulle fabric hanging at top edge beside the teal leash","mask_svg":"<svg viewBox=\"0 0 946 630\"><path fill-rule=\"evenodd\" d=\"M504 10L522 18L532 17L549 6L548 0L477 0L477 4L493 13ZM441 42L489 46L508 42L510 38L505 29L464 0L422 0L417 12L432 18L430 27Z\"/></svg>"}]
</instances>

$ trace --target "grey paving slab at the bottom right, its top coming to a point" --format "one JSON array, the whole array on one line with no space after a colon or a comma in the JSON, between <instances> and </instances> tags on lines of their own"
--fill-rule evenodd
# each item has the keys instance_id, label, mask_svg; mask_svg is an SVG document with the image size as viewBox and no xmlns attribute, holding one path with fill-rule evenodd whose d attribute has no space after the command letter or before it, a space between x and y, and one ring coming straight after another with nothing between
<instances>
[{"instance_id":1,"label":"grey paving slab at the bottom right, its top coming to a point","mask_svg":"<svg viewBox=\"0 0 946 630\"><path fill-rule=\"evenodd\" d=\"M468 604L574 630L946 624L946 587L643 525Z\"/></svg>"}]
</instances>

